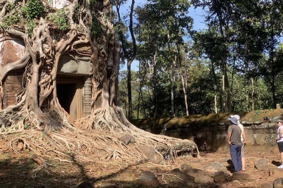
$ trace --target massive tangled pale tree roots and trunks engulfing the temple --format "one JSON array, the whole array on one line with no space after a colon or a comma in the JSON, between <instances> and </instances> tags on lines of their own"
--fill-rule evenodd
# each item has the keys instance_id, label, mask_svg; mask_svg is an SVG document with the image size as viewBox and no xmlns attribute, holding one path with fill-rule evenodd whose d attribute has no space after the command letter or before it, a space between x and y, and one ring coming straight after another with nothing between
<instances>
[{"instance_id":1,"label":"massive tangled pale tree roots and trunks engulfing the temple","mask_svg":"<svg viewBox=\"0 0 283 188\"><path fill-rule=\"evenodd\" d=\"M136 128L126 119L117 96L120 45L110 22L112 6L109 0L73 0L67 6L66 22L69 27L61 35L57 28L60 25L56 26L49 19L50 14L58 11L50 7L49 13L38 13L33 17L37 24L33 32L28 33L30 28L26 23L31 20L27 19L28 13L19 8L25 5L25 0L3 1L0 12L3 33L19 37L25 44L25 55L0 70L0 135L22 135L11 140L11 149L15 152L22 149L36 152L36 160L40 159L40 155L52 152L56 154L54 159L70 163L70 157L76 161L121 159L141 162L147 160L139 149L141 146L152 146L160 155L173 152L175 160L178 151L197 149L192 141L154 135ZM24 24L7 26L15 14ZM100 29L93 32L95 21ZM50 33L56 33L59 39ZM76 50L76 46L81 44L89 45L92 53ZM61 107L56 91L58 62L67 52L91 57L92 113L75 122ZM24 89L17 95L14 105L3 109L3 82L11 71L17 69L24 69ZM95 107L97 100L101 100L101 107ZM136 143L125 145L121 142L119 138L125 134L134 136ZM18 147L19 143L22 147ZM162 157L160 164L163 163ZM46 164L44 166L46 168Z\"/></svg>"}]
</instances>

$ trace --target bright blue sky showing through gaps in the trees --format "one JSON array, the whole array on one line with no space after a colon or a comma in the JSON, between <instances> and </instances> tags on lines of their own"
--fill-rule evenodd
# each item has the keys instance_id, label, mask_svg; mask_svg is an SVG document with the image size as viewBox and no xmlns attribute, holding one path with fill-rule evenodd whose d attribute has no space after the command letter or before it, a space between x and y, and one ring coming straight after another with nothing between
<instances>
[{"instance_id":1,"label":"bright blue sky showing through gaps in the trees","mask_svg":"<svg viewBox=\"0 0 283 188\"><path fill-rule=\"evenodd\" d=\"M131 3L132 1L129 0L126 4L120 7L121 17L129 13ZM136 0L135 7L138 5L142 6L145 3L147 3L147 0ZM116 11L116 7L113 7L113 10ZM193 7L189 8L189 15L194 19L193 30L198 31L199 29L204 29L206 27L205 24L203 23L203 17L202 17L202 15L204 14L205 14L204 11L200 7L196 9L194 9ZM131 65L131 70L138 70L138 65L139 65L138 61L134 60ZM121 67L120 70L127 70L127 66L124 65L123 67Z\"/></svg>"}]
</instances>

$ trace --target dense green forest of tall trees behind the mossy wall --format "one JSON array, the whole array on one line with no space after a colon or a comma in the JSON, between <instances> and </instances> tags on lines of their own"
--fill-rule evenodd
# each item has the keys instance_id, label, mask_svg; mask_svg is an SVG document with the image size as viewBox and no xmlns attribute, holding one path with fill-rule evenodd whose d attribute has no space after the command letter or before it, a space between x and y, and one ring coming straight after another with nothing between
<instances>
[{"instance_id":1,"label":"dense green forest of tall trees behind the mossy wall","mask_svg":"<svg viewBox=\"0 0 283 188\"><path fill-rule=\"evenodd\" d=\"M206 28L201 31L191 29L191 4L205 11ZM168 34L176 116L186 115L180 70L190 114L271 109L278 103L283 106L280 0L150 0L134 13L139 63L138 70L132 71L134 118L171 115ZM126 21L125 17L123 23L116 22L123 30L123 40L128 40ZM223 78L227 78L225 83ZM125 72L120 72L119 80L121 102L126 108ZM230 110L225 102L229 102Z\"/></svg>"}]
</instances>

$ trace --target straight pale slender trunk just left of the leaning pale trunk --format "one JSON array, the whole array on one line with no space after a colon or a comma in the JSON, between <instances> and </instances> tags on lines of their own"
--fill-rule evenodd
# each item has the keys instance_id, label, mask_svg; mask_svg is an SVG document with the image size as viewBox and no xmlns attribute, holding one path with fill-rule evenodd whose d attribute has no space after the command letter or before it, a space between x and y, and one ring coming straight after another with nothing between
<instances>
[{"instance_id":1,"label":"straight pale slender trunk just left of the leaning pale trunk","mask_svg":"<svg viewBox=\"0 0 283 188\"><path fill-rule=\"evenodd\" d=\"M167 24L167 39L168 39L168 54L169 54L169 63L170 63L170 84L171 84L171 116L175 117L174 109L174 80L173 80L173 61L171 56L171 41L170 41L170 32L168 18L166 20Z\"/></svg>"}]
</instances>

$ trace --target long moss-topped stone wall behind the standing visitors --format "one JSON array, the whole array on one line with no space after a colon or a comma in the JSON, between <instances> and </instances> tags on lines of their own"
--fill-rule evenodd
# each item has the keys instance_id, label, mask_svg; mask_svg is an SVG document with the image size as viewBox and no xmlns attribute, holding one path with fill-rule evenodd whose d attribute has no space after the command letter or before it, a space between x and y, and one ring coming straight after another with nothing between
<instances>
[{"instance_id":1,"label":"long moss-topped stone wall behind the standing visitors","mask_svg":"<svg viewBox=\"0 0 283 188\"><path fill-rule=\"evenodd\" d=\"M238 114L247 134L247 149L266 150L275 147L275 121L283 117L283 109L257 110L253 112L212 113L168 118L147 118L131 120L136 127L146 131L189 139L197 143L203 150L225 151L227 130L231 115Z\"/></svg>"}]
</instances>

